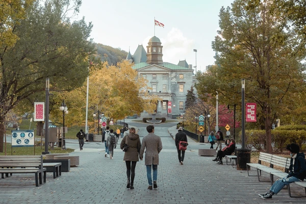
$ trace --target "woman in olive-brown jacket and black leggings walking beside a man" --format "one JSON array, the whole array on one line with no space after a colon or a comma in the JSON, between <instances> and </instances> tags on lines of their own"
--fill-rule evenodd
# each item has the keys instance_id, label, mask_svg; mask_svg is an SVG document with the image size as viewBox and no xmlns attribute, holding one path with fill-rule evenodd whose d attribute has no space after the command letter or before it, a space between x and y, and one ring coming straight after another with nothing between
<instances>
[{"instance_id":1,"label":"woman in olive-brown jacket and black leggings walking beside a man","mask_svg":"<svg viewBox=\"0 0 306 204\"><path fill-rule=\"evenodd\" d=\"M121 140L120 148L123 149L124 144L129 146L127 151L124 152L123 161L126 165L126 175L127 175L127 185L126 188L134 189L134 178L135 178L135 167L136 163L139 161L139 152L141 147L141 142L139 135L136 134L134 127L131 128L131 133L124 136Z\"/></svg>"}]
</instances>

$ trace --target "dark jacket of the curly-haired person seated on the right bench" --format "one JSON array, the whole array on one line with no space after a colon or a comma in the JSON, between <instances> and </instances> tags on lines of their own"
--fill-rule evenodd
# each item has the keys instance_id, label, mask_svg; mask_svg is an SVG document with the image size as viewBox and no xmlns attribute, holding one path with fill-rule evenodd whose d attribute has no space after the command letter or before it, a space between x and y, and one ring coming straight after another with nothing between
<instances>
[{"instance_id":1,"label":"dark jacket of the curly-haired person seated on the right bench","mask_svg":"<svg viewBox=\"0 0 306 204\"><path fill-rule=\"evenodd\" d=\"M294 164L293 158L291 158L289 171L289 176L294 176L302 181L304 180L306 177L306 164L305 155L303 152L297 154L296 158L294 159Z\"/></svg>"}]
</instances>

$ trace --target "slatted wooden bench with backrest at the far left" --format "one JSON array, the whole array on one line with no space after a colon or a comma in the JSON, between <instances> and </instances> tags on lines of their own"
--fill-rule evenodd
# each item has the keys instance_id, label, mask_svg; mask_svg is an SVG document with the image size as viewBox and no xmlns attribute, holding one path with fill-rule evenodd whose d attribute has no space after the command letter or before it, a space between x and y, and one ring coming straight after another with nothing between
<instances>
[{"instance_id":1,"label":"slatted wooden bench with backrest at the far left","mask_svg":"<svg viewBox=\"0 0 306 204\"><path fill-rule=\"evenodd\" d=\"M13 173L35 173L35 185L46 183L46 168L43 168L42 155L40 156L0 156L0 173L2 179ZM43 182L42 182L43 173Z\"/></svg>"}]
</instances>

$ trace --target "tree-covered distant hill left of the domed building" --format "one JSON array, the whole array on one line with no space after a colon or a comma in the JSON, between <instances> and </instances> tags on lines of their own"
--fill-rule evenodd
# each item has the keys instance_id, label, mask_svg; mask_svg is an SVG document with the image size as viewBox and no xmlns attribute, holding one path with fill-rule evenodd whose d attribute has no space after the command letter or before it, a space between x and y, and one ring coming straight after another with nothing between
<instances>
[{"instance_id":1,"label":"tree-covered distant hill left of the domed building","mask_svg":"<svg viewBox=\"0 0 306 204\"><path fill-rule=\"evenodd\" d=\"M108 62L109 65L116 65L118 62L125 60L127 52L120 48L114 48L108 45L95 43L97 57L103 62Z\"/></svg>"}]
</instances>

